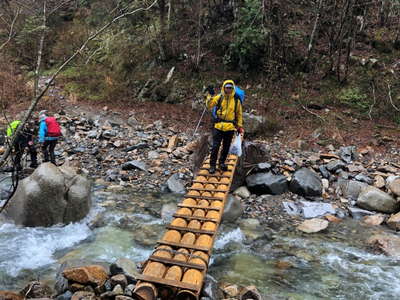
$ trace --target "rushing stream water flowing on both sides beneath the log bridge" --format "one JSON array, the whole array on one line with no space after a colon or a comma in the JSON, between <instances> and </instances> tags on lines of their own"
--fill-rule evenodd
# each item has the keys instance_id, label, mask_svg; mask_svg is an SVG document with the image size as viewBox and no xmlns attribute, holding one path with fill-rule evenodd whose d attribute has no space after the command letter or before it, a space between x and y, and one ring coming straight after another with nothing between
<instances>
[{"instance_id":1,"label":"rushing stream water flowing on both sides beneath the log bridge","mask_svg":"<svg viewBox=\"0 0 400 300\"><path fill-rule=\"evenodd\" d=\"M20 290L38 279L54 284L68 260L145 260L170 221L161 218L163 205L181 196L96 186L92 199L90 214L78 223L50 228L0 223L0 290ZM307 235L239 219L220 227L209 273L220 283L255 285L267 299L395 299L399 261L374 254L365 243L383 230L347 219Z\"/></svg>"}]
</instances>

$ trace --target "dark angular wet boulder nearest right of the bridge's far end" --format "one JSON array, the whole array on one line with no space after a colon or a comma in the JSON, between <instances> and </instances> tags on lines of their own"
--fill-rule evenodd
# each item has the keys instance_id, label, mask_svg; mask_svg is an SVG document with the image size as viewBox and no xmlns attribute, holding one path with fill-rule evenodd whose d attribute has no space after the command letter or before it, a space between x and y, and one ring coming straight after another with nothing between
<instances>
[{"instance_id":1,"label":"dark angular wet boulder nearest right of the bridge's far end","mask_svg":"<svg viewBox=\"0 0 400 300\"><path fill-rule=\"evenodd\" d=\"M286 177L271 172L250 175L246 178L246 183L249 191L257 195L280 195L288 190Z\"/></svg>"}]
</instances>

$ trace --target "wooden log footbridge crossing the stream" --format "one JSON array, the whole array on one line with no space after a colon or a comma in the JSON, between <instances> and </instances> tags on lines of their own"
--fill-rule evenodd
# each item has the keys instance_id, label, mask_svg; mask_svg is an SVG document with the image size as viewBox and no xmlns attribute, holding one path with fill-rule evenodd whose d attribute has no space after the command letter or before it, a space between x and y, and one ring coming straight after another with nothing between
<instances>
[{"instance_id":1,"label":"wooden log footbridge crossing the stream","mask_svg":"<svg viewBox=\"0 0 400 300\"><path fill-rule=\"evenodd\" d=\"M199 299L236 163L237 156L229 155L228 171L210 174L209 159L204 161L163 238L143 264L135 299Z\"/></svg>"}]
</instances>

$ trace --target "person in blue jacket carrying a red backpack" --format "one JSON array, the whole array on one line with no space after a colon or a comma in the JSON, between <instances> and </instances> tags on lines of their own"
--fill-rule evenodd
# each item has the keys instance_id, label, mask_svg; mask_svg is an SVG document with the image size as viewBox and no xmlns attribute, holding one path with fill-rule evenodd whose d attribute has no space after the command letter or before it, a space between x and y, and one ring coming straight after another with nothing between
<instances>
[{"instance_id":1,"label":"person in blue jacket carrying a red backpack","mask_svg":"<svg viewBox=\"0 0 400 300\"><path fill-rule=\"evenodd\" d=\"M39 113L39 122L39 142L42 145L43 162L49 161L50 153L50 162L56 164L54 149L56 148L58 138L61 136L60 125L56 118L48 117L45 110Z\"/></svg>"}]
</instances>

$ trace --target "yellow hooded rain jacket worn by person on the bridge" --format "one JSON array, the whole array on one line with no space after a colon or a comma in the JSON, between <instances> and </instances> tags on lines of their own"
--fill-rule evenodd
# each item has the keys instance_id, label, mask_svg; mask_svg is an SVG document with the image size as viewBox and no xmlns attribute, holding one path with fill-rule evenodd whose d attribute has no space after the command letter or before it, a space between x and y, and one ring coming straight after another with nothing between
<instances>
[{"instance_id":1,"label":"yellow hooded rain jacket worn by person on the bridge","mask_svg":"<svg viewBox=\"0 0 400 300\"><path fill-rule=\"evenodd\" d=\"M225 95L224 87L226 84L233 85L233 91L229 95ZM239 99L235 100L235 83L233 80L225 80L221 87L221 94L216 96L208 95L206 99L206 106L211 111L214 106L218 105L219 98L223 97L220 107L217 109L218 121L214 127L222 131L236 130L239 127L243 127L242 118L242 104ZM235 104L237 102L237 104ZM236 106L236 112L235 112Z\"/></svg>"}]
</instances>

